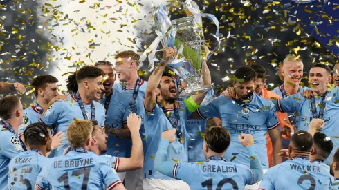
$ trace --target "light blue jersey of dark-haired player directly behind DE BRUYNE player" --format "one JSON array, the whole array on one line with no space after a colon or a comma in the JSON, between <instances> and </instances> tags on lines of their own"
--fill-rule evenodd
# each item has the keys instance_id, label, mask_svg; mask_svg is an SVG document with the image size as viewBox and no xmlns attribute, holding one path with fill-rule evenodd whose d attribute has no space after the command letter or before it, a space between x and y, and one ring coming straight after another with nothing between
<instances>
[{"instance_id":1,"label":"light blue jersey of dark-haired player directly behind DE BRUYNE player","mask_svg":"<svg viewBox=\"0 0 339 190\"><path fill-rule=\"evenodd\" d=\"M104 120L105 120L105 111L104 106L102 106L99 102L93 101L95 107L95 120L98 121L99 126L104 128ZM91 104L84 103L84 108L86 111L87 118L91 118ZM80 109L79 104L77 104L77 99L75 95L69 95L67 101L54 102L54 104L48 108L45 114L39 119L39 122L44 122L48 126L55 124L56 131L63 131L67 133L68 125L75 119L84 120L84 116L82 115L82 111ZM65 145L58 146L55 149L54 156L59 156L64 153L64 149L66 149L69 144L68 140L63 140Z\"/></svg>"}]
</instances>

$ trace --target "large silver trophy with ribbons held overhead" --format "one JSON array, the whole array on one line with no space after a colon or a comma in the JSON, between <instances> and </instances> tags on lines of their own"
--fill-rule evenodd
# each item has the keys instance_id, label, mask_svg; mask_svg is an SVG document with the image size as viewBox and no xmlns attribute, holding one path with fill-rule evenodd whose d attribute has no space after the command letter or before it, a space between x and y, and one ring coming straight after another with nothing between
<instances>
[{"instance_id":1,"label":"large silver trophy with ribbons held overhead","mask_svg":"<svg viewBox=\"0 0 339 190\"><path fill-rule=\"evenodd\" d=\"M183 17L170 20L171 12L177 12L176 15L181 14ZM154 10L156 33L161 37L163 48L174 45L177 49L177 55L168 66L187 84L180 97L204 93L211 89L211 86L201 84L199 74L205 49L202 19L199 13L199 6L190 0L182 5L178 1L167 5L161 4Z\"/></svg>"}]
</instances>

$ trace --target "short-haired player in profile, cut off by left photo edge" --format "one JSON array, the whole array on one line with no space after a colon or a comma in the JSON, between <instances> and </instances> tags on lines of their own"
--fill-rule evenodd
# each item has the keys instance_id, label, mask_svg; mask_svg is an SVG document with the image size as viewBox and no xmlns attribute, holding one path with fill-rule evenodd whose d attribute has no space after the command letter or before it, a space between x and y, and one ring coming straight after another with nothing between
<instances>
[{"instance_id":1,"label":"short-haired player in profile, cut off by left photo edge","mask_svg":"<svg viewBox=\"0 0 339 190\"><path fill-rule=\"evenodd\" d=\"M24 152L23 143L17 132L24 120L24 109L19 98L8 95L0 99L0 118L2 129L0 131L0 189L8 189L8 164L12 158Z\"/></svg>"}]
</instances>

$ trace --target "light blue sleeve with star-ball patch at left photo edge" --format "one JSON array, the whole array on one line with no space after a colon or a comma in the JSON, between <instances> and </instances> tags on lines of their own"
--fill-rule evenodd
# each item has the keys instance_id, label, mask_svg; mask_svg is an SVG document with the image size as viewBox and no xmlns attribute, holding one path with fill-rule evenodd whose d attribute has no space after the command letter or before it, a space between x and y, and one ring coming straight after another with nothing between
<instances>
[{"instance_id":1,"label":"light blue sleeve with star-ball patch at left photo edge","mask_svg":"<svg viewBox=\"0 0 339 190\"><path fill-rule=\"evenodd\" d=\"M6 158L8 159L15 158L15 156L24 152L19 137L12 133L6 133L6 135L1 135L0 144L2 155L6 156Z\"/></svg>"}]
</instances>

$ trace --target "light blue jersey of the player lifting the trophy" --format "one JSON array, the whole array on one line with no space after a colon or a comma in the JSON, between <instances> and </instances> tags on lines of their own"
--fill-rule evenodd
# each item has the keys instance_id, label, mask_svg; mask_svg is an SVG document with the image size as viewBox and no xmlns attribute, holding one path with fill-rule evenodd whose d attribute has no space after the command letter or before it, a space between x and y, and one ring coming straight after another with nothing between
<instances>
[{"instance_id":1,"label":"light blue jersey of the player lifting the trophy","mask_svg":"<svg viewBox=\"0 0 339 190\"><path fill-rule=\"evenodd\" d=\"M188 111L185 102L180 102L181 106L178 110L180 115L180 129L184 139L187 139L187 132L185 127L185 121L187 117L192 114ZM163 109L156 104L154 110L151 112L145 111L144 118L144 127L146 132L146 143L147 151L145 152L145 161L144 161L144 173L145 178L156 178L162 180L174 180L167 175L163 175L158 171L154 170L154 158L156 156L156 151L158 150L159 143L161 141L161 133L167 129L173 129L172 124L168 121ZM170 112L174 117L173 109L167 109L167 112ZM172 162L187 162L187 140L184 140L183 144L179 142L180 140L176 136L176 141L172 142L168 147L168 160Z\"/></svg>"}]
</instances>

